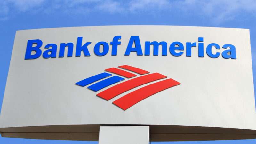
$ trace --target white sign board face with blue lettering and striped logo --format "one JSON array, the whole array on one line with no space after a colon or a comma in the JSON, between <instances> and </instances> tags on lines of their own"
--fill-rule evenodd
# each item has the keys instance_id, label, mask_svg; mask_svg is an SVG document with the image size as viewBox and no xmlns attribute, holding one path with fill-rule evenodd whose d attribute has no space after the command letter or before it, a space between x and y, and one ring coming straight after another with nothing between
<instances>
[{"instance_id":1,"label":"white sign board face with blue lettering and striped logo","mask_svg":"<svg viewBox=\"0 0 256 144\"><path fill-rule=\"evenodd\" d=\"M256 130L249 30L95 26L17 31L0 131L102 124Z\"/></svg>"}]
</instances>

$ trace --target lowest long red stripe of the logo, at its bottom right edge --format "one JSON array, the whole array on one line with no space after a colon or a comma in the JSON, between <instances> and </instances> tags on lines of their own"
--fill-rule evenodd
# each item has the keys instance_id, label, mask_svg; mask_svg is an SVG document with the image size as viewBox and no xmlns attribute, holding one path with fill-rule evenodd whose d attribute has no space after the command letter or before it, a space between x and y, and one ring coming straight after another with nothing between
<instances>
[{"instance_id":1,"label":"lowest long red stripe of the logo, at its bottom right edge","mask_svg":"<svg viewBox=\"0 0 256 144\"><path fill-rule=\"evenodd\" d=\"M133 92L126 94L125 96L115 100L113 104L115 104L119 108L122 108L123 110L126 110L132 107L134 104L148 98L149 96L157 92L161 92L165 89L168 89L170 87L173 87L179 84L180 84L179 82L171 78L160 81L160 82L156 82L154 84L144 86L138 90L135 90Z\"/></svg>"}]
</instances>

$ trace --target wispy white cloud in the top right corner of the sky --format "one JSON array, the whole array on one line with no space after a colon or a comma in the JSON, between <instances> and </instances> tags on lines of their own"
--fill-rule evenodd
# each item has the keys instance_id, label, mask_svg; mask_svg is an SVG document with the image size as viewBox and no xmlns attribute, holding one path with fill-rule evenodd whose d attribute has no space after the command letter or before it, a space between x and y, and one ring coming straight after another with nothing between
<instances>
[{"instance_id":1,"label":"wispy white cloud in the top right corner of the sky","mask_svg":"<svg viewBox=\"0 0 256 144\"><path fill-rule=\"evenodd\" d=\"M241 12L256 16L254 0L185 0L182 4L190 11L210 17L217 23L233 20Z\"/></svg>"}]
</instances>

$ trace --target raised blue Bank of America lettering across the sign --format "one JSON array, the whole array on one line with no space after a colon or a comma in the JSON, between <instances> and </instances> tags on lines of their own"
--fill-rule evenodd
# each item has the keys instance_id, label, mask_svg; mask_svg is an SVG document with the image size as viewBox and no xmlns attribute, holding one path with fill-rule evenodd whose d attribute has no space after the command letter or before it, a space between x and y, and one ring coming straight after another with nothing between
<instances>
[{"instance_id":1,"label":"raised blue Bank of America lettering across the sign","mask_svg":"<svg viewBox=\"0 0 256 144\"><path fill-rule=\"evenodd\" d=\"M83 37L77 37L77 43L76 43L76 57L80 57L81 53L83 52L84 56L90 56L90 52L88 51L88 46L92 42L86 42L85 44L82 44ZM111 55L116 56L117 55L117 47L118 45L121 45L121 36L115 36L113 37L113 40L109 43L109 45L112 45L111 49ZM169 46L169 52L172 56L179 57L184 54L184 47L186 48L186 56L191 57L191 49L197 48L198 50L198 57L204 57L204 38L198 37L198 43L197 42L186 42L185 46L181 42L172 42ZM73 43L60 43L59 44L59 58L64 57L65 49L68 49L67 57L73 56ZM98 42L94 45L94 54L97 56L104 56L109 51L109 45L107 42ZM150 55L150 46L153 46L153 55L158 56L158 49L159 46L162 47L162 56L167 56L167 42L157 42L157 41L146 41L144 44L144 55L148 56ZM57 57L57 44L46 44L44 46L44 52L42 54L43 49L41 47L43 46L43 41L40 39L34 39L34 40L28 40L26 53L25 53L25 59L36 59L39 58L41 55L43 58L56 58ZM100 51L100 47L103 49ZM220 49L224 49L224 51L220 52ZM216 49L213 52L213 49ZM33 54L32 54L33 52ZM131 52L136 53L138 56L142 56L142 47L140 43L140 37L139 36L131 36L129 43L126 47L125 56L129 56ZM225 59L236 59L236 47L232 44L224 44L222 47L220 47L219 44L211 43L206 46L206 54L211 58L218 58L220 54Z\"/></svg>"}]
</instances>

